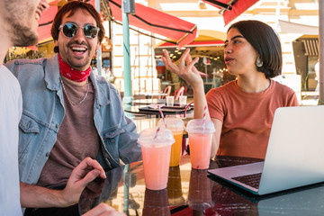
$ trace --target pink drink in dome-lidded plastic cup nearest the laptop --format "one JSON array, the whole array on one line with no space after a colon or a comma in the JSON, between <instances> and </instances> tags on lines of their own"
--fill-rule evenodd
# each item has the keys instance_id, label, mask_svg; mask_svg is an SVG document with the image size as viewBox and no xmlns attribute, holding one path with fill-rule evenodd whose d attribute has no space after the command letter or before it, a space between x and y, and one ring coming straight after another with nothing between
<instances>
[{"instance_id":1,"label":"pink drink in dome-lidded plastic cup nearest the laptop","mask_svg":"<svg viewBox=\"0 0 324 216\"><path fill-rule=\"evenodd\" d=\"M188 122L190 160L195 169L207 169L211 159L211 139L216 131L211 120L194 119Z\"/></svg>"}]
</instances>

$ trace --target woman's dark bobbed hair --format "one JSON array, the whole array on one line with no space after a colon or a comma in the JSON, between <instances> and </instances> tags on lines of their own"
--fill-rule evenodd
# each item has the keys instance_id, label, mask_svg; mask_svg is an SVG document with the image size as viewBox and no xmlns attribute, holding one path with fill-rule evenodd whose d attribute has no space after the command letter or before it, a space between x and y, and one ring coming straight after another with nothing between
<instances>
[{"instance_id":1,"label":"woman's dark bobbed hair","mask_svg":"<svg viewBox=\"0 0 324 216\"><path fill-rule=\"evenodd\" d=\"M243 37L257 50L263 65L257 67L257 71L273 78L281 75L283 67L283 56L278 34L266 23L259 21L239 21L233 23L229 30L237 29ZM228 32L229 32L228 30Z\"/></svg>"}]
</instances>

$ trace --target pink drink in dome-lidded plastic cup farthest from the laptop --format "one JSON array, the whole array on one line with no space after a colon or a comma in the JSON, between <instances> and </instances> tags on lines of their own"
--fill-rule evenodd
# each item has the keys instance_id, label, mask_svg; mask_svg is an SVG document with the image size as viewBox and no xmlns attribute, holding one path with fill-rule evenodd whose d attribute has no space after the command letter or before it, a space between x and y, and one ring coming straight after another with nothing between
<instances>
[{"instance_id":1,"label":"pink drink in dome-lidded plastic cup farthest from the laptop","mask_svg":"<svg viewBox=\"0 0 324 216\"><path fill-rule=\"evenodd\" d=\"M166 188L169 171L171 145L175 142L170 130L147 129L139 134L144 179L146 188L162 190Z\"/></svg>"}]
</instances>

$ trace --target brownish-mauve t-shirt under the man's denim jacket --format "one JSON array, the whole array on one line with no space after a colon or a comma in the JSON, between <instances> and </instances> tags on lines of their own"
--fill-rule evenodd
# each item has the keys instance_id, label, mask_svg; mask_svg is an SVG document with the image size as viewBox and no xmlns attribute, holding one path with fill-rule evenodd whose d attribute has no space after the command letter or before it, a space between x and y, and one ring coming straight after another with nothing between
<instances>
[{"instance_id":1,"label":"brownish-mauve t-shirt under the man's denim jacket","mask_svg":"<svg viewBox=\"0 0 324 216\"><path fill-rule=\"evenodd\" d=\"M94 88L91 83L85 97L86 85L64 82L66 113L58 130L58 139L50 151L49 159L41 170L38 185L59 187L67 184L72 170L85 157L95 158L99 149L99 135L94 127ZM82 103L77 103L85 97Z\"/></svg>"}]
</instances>

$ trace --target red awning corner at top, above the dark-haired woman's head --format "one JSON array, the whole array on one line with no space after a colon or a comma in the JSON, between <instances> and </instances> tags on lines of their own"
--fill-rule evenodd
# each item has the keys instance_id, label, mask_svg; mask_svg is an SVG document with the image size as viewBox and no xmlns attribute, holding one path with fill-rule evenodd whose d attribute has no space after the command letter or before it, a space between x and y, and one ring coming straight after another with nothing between
<instances>
[{"instance_id":1,"label":"red awning corner at top, above the dark-haired woman's head","mask_svg":"<svg viewBox=\"0 0 324 216\"><path fill-rule=\"evenodd\" d=\"M232 0L202 0L202 1L225 10L222 15L224 18L224 23L225 25L227 25L235 18L237 18L238 15L243 14L253 4L256 4L258 0L237 0L234 2ZM230 4L230 2L233 3Z\"/></svg>"}]
</instances>

